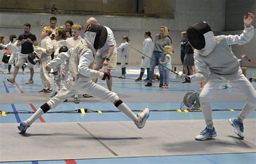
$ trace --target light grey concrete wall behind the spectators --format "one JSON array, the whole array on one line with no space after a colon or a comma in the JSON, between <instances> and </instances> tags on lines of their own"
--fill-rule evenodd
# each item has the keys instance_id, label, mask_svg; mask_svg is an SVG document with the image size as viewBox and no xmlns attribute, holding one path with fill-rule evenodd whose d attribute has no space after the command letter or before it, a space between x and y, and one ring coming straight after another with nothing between
<instances>
[{"instance_id":1,"label":"light grey concrete wall behind the spectators","mask_svg":"<svg viewBox=\"0 0 256 164\"><path fill-rule=\"evenodd\" d=\"M114 17L114 16L95 16L100 24L109 26L114 33L122 33L125 31L129 33L131 39L130 45L139 51L142 51L142 44L144 40L144 32L149 30L154 35L158 33L161 25L167 26L171 32L174 55L172 58L172 64L181 64L180 62L180 32L187 29L188 26L197 23L201 20L210 24L212 30L216 35L219 35L221 31L225 30L225 8L226 0L177 0L167 3L174 11L174 19L171 18L149 18L149 17ZM173 7L174 5L174 7ZM174 9L173 9L174 8ZM166 9L166 8L165 8ZM50 14L32 14L32 13L1 13L0 14L0 34L9 38L10 34L19 35L23 33L23 24L30 23L32 25L31 32L35 33L39 39L43 23L43 26L49 25ZM84 27L86 19L91 17L86 16L74 16L74 15L56 15L57 24L64 24L65 20L72 20L74 23L79 23ZM8 18L8 19L6 19ZM118 32L119 31L119 32ZM227 32L229 33L229 32ZM120 45L120 38L116 38L118 46ZM254 38L255 39L255 38ZM8 39L6 39L8 40ZM255 43L255 42L254 42ZM251 44L251 43L250 43ZM255 45L255 44L254 44ZM247 47L242 45L241 47ZM245 49L254 49L253 46ZM235 53L237 49L233 49ZM238 49L239 50L239 49ZM244 52L245 53L245 52ZM251 53L251 52L250 52ZM254 53L255 54L255 53ZM129 64L139 65L141 61L141 54L136 50L130 49L129 51Z\"/></svg>"}]
</instances>

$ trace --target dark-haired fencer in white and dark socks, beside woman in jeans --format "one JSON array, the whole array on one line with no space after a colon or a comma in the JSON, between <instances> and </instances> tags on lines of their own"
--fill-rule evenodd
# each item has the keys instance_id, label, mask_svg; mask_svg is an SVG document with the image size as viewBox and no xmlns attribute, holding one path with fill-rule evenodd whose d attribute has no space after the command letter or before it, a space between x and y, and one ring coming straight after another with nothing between
<instances>
[{"instance_id":1,"label":"dark-haired fencer in white and dark socks, beside woman in jeans","mask_svg":"<svg viewBox=\"0 0 256 164\"><path fill-rule=\"evenodd\" d=\"M140 74L139 78L135 81L142 81L143 74L145 69L147 69L147 78L144 80L149 80L149 72L150 72L150 58L152 57L152 52L154 50L154 42L151 37L151 32L146 31L144 33L144 42L143 42L143 49L142 49L142 64L140 65ZM145 55L144 55L145 54Z\"/></svg>"}]
</instances>

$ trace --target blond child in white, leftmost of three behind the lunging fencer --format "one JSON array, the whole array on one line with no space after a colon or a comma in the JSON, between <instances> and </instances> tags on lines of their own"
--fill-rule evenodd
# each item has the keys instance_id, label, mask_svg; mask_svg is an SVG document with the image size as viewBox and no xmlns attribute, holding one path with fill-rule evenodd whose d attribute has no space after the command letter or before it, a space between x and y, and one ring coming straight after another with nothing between
<instances>
[{"instance_id":1,"label":"blond child in white, leftmost of three behind the lunging fencer","mask_svg":"<svg viewBox=\"0 0 256 164\"><path fill-rule=\"evenodd\" d=\"M38 93L51 94L52 93L52 78L51 74L45 70L46 65L51 61L51 53L53 52L52 40L49 37L52 33L52 29L49 26L45 26L41 33L41 46L36 46L35 51L39 53L40 65L40 77L44 88Z\"/></svg>"}]
</instances>

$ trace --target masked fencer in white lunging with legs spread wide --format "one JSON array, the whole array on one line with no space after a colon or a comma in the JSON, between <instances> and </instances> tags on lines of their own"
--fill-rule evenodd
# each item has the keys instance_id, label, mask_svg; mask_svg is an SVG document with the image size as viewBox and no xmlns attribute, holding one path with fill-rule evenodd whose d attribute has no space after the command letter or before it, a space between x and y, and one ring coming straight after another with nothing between
<instances>
[{"instance_id":1,"label":"masked fencer in white lunging with legs spread wide","mask_svg":"<svg viewBox=\"0 0 256 164\"><path fill-rule=\"evenodd\" d=\"M38 110L27 120L21 122L18 126L19 131L26 132L26 129L38 119L42 114L55 108L61 104L65 99L70 98L76 92L88 93L93 97L98 97L102 100L108 100L113 103L118 110L127 115L138 128L143 128L147 118L150 115L148 108L143 112L134 114L130 108L119 99L118 95L93 83L91 78L100 78L107 80L110 74L106 72L99 72L89 68L90 64L95 59L95 49L102 47L107 38L107 30L104 26L91 24L86 28L84 35L85 40L82 40L75 48L69 49L68 52L62 52L56 59L53 59L46 68L50 71L56 65L65 60L69 60L69 79L64 83L57 95L51 98L47 103L43 104Z\"/></svg>"}]
</instances>

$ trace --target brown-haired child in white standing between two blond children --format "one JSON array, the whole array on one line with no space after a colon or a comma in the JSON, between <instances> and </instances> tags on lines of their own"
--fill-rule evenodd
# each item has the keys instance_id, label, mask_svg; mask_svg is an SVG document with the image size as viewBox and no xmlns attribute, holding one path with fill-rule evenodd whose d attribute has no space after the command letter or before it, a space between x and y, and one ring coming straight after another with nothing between
<instances>
[{"instance_id":1,"label":"brown-haired child in white standing between two blond children","mask_svg":"<svg viewBox=\"0 0 256 164\"><path fill-rule=\"evenodd\" d=\"M53 49L54 49L54 58L57 58L59 54L59 48L61 46L68 46L66 43L66 31L63 28L56 29L54 38L57 40L57 42L53 43ZM62 83L62 64L56 65L56 67L53 69L54 72L57 72L57 75L54 75L55 78L55 91L52 91L51 97L54 97L58 91L60 90L60 83ZM64 79L63 79L64 80Z\"/></svg>"}]
</instances>

